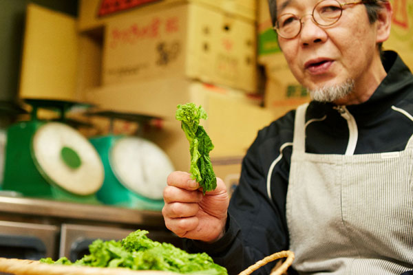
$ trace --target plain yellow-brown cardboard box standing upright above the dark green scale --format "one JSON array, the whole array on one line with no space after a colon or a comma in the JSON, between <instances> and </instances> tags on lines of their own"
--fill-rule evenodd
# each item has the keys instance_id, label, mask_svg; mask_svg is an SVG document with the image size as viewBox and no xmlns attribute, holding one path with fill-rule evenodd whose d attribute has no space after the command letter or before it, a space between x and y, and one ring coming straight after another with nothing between
<instances>
[{"instance_id":1,"label":"plain yellow-brown cardboard box standing upright above the dark green scale","mask_svg":"<svg viewBox=\"0 0 413 275\"><path fill-rule=\"evenodd\" d=\"M77 54L76 19L29 3L19 97L78 100Z\"/></svg>"}]
</instances>

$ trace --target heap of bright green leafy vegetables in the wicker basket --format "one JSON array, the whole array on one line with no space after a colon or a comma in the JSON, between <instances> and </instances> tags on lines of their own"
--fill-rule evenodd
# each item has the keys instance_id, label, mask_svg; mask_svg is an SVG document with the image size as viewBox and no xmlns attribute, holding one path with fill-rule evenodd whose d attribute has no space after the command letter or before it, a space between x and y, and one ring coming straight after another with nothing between
<instances>
[{"instance_id":1,"label":"heap of bright green leafy vegetables in the wicker basket","mask_svg":"<svg viewBox=\"0 0 413 275\"><path fill-rule=\"evenodd\" d=\"M226 269L213 263L206 253L189 254L170 243L152 241L145 230L132 232L122 241L97 239L89 245L90 254L72 263L63 257L43 263L90 267L126 267L131 270L163 270L179 273L227 275Z\"/></svg>"}]
</instances>

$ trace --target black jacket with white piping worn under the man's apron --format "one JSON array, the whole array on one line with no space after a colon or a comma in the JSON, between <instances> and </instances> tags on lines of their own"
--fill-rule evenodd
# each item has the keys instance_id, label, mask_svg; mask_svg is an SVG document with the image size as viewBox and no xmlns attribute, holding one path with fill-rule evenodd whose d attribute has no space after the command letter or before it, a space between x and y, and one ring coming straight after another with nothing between
<instances>
[{"instance_id":1,"label":"black jacket with white piping worn under the man's apron","mask_svg":"<svg viewBox=\"0 0 413 275\"><path fill-rule=\"evenodd\" d=\"M346 106L357 123L354 154L403 151L413 135L412 73L395 52L384 53L383 65L388 75L371 98ZM392 106L403 109L410 118ZM310 102L306 121L324 116L324 120L306 127L306 152L344 154L350 135L347 120L335 104ZM295 111L290 111L258 132L244 157L240 183L231 197L226 234L213 244L185 240L189 252L207 252L229 274L238 274L265 256L288 250L286 192L294 119ZM266 182L270 170L272 199ZM254 274L269 274L271 267L267 264Z\"/></svg>"}]
</instances>

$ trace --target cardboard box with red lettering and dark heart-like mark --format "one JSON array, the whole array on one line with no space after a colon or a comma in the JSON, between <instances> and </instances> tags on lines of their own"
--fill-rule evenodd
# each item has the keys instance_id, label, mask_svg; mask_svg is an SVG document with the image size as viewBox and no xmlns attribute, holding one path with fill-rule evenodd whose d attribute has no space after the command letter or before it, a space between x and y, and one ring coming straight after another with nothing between
<instances>
[{"instance_id":1,"label":"cardboard box with red lettering and dark heart-like mark","mask_svg":"<svg viewBox=\"0 0 413 275\"><path fill-rule=\"evenodd\" d=\"M255 26L195 3L107 23L103 85L186 76L255 93Z\"/></svg>"}]
</instances>

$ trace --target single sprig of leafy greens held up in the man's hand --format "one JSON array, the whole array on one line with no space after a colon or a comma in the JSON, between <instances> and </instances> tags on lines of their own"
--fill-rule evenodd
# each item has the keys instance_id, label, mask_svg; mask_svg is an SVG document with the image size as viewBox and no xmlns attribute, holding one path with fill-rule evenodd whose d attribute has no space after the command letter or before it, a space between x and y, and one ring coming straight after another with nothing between
<instances>
[{"instance_id":1,"label":"single sprig of leafy greens held up in the man's hand","mask_svg":"<svg viewBox=\"0 0 413 275\"><path fill-rule=\"evenodd\" d=\"M213 172L209 152L213 149L211 138L200 125L200 119L208 118L205 110L194 103L179 104L176 110L176 120L181 122L181 128L189 141L189 151L191 153L191 173L192 179L195 179L202 187L205 194L207 191L214 190L217 187L217 179Z\"/></svg>"}]
</instances>

